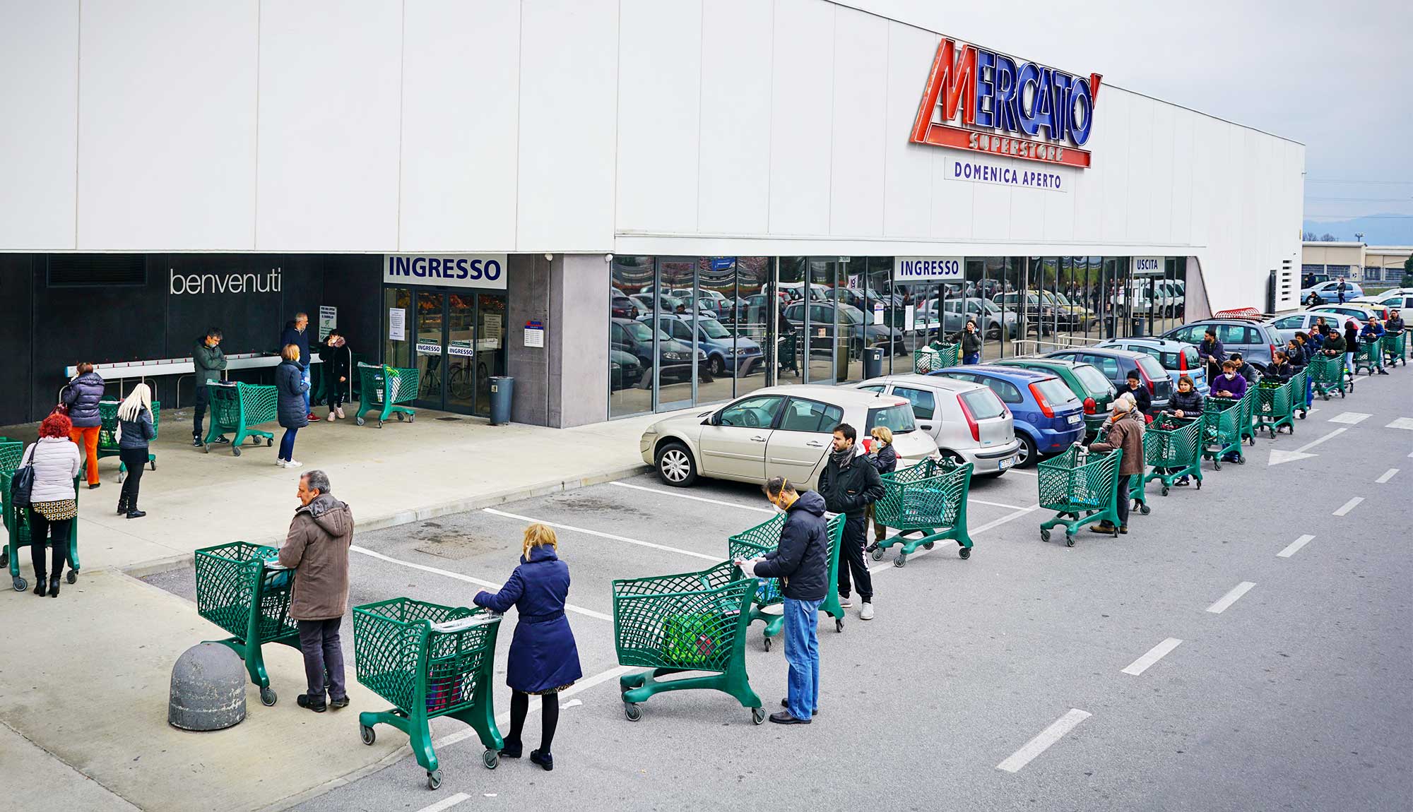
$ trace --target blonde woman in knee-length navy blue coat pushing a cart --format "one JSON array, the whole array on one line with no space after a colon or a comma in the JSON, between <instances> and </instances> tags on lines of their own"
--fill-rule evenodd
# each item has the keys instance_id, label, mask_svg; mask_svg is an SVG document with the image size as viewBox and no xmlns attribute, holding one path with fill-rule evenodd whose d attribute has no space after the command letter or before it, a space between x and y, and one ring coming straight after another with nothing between
<instances>
[{"instance_id":1,"label":"blonde woman in knee-length navy blue coat pushing a cart","mask_svg":"<svg viewBox=\"0 0 1413 812\"><path fill-rule=\"evenodd\" d=\"M554 770L550 744L560 723L560 692L584 676L579 671L579 648L574 631L564 616L564 602L569 595L569 565L560 561L554 531L543 524L526 528L520 566L510 580L495 595L476 593L476 606L492 611L506 611L512 606L520 613L516 634L510 640L506 662L506 685L510 686L510 734L502 756L520 758L520 733L530 712L530 695L538 693L540 748L530 751L530 761Z\"/></svg>"}]
</instances>

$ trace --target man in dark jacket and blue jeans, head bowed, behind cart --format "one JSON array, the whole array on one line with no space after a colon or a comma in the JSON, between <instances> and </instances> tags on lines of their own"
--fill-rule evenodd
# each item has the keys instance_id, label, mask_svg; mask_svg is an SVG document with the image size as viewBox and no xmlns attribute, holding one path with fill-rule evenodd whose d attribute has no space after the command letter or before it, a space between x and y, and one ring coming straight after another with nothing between
<instances>
[{"instance_id":1,"label":"man in dark jacket and blue jeans, head bowed, behind cart","mask_svg":"<svg viewBox=\"0 0 1413 812\"><path fill-rule=\"evenodd\" d=\"M786 707L771 713L777 724L808 724L820 710L818 613L829 589L829 535L824 520L824 497L807 490L796 493L784 477L773 477L763 489L770 504L786 511L780 545L756 561L736 561L743 573L779 578L784 595L786 662L790 664Z\"/></svg>"}]
</instances>

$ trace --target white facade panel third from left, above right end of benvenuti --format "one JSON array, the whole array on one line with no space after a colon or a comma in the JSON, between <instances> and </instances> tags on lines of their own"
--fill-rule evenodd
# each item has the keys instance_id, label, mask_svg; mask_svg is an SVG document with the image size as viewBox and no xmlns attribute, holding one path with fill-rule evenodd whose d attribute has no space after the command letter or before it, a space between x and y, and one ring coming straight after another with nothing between
<instances>
[{"instance_id":1,"label":"white facade panel third from left, above right end of benvenuti","mask_svg":"<svg viewBox=\"0 0 1413 812\"><path fill-rule=\"evenodd\" d=\"M397 247L400 4L260 4L256 247Z\"/></svg>"}]
</instances>

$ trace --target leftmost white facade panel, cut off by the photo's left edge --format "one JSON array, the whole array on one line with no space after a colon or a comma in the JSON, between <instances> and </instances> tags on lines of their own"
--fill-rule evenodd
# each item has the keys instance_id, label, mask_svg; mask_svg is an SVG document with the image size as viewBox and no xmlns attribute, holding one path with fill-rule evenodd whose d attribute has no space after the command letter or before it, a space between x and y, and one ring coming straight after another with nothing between
<instances>
[{"instance_id":1,"label":"leftmost white facade panel, cut off by the photo's left edge","mask_svg":"<svg viewBox=\"0 0 1413 812\"><path fill-rule=\"evenodd\" d=\"M0 250L72 249L79 4L0 3Z\"/></svg>"}]
</instances>

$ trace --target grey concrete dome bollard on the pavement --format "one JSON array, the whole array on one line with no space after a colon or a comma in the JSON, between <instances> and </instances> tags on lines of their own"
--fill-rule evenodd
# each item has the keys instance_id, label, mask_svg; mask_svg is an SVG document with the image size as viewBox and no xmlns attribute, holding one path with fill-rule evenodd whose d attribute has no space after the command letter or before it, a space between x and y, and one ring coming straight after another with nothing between
<instances>
[{"instance_id":1,"label":"grey concrete dome bollard on the pavement","mask_svg":"<svg viewBox=\"0 0 1413 812\"><path fill-rule=\"evenodd\" d=\"M167 723L182 730L220 730L246 717L246 668L219 643L192 645L172 665Z\"/></svg>"}]
</instances>

